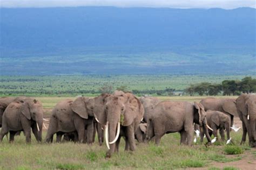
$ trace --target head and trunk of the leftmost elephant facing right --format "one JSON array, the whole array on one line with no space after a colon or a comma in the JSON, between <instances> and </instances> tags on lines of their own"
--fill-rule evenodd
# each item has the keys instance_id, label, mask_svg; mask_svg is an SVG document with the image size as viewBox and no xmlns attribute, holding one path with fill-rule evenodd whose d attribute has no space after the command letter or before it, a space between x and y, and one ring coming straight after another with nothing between
<instances>
[{"instance_id":1,"label":"head and trunk of the leftmost elephant facing right","mask_svg":"<svg viewBox=\"0 0 256 170\"><path fill-rule=\"evenodd\" d=\"M22 114L29 120L36 123L38 130L39 141L42 141L42 131L43 131L43 105L36 99L27 98L24 100L21 106Z\"/></svg>"}]
</instances>

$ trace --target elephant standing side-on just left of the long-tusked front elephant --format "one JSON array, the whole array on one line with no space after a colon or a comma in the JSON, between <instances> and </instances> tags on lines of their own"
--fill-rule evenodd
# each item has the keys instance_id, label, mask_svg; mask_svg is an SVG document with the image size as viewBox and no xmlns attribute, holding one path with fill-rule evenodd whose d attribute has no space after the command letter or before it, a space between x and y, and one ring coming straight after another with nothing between
<instances>
[{"instance_id":1,"label":"elephant standing side-on just left of the long-tusked front elephant","mask_svg":"<svg viewBox=\"0 0 256 170\"><path fill-rule=\"evenodd\" d=\"M52 109L49 128L45 141L52 142L56 133L56 141L60 142L64 133L77 132L80 143L92 143L93 136L93 100L87 97L78 97L75 101L64 100ZM85 131L87 133L85 133Z\"/></svg>"}]
</instances>

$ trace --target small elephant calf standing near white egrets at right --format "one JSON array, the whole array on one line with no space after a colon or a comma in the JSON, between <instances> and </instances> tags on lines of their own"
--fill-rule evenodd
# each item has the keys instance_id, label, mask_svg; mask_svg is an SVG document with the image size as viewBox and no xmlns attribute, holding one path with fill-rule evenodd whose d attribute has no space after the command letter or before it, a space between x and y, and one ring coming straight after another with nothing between
<instances>
[{"instance_id":1,"label":"small elephant calf standing near white egrets at right","mask_svg":"<svg viewBox=\"0 0 256 170\"><path fill-rule=\"evenodd\" d=\"M231 125L231 120L230 117L224 114L223 112L220 111L212 111L212 110L207 110L206 111L206 118L207 118L207 123L208 125L212 128L213 131L209 129L209 135L211 136L212 133L214 137L217 138L218 140L218 129L220 131L220 137L221 140L225 140L225 132L227 132L227 139L230 139L230 125ZM201 142L203 142L204 139L204 133L200 131L200 138Z\"/></svg>"}]
</instances>

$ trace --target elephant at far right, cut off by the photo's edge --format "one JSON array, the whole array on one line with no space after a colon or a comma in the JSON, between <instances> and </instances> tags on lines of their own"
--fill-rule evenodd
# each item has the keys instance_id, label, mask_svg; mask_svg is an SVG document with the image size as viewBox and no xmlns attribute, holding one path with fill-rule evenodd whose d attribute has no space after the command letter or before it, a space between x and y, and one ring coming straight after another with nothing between
<instances>
[{"instance_id":1,"label":"elephant at far right, cut off by the photo's edge","mask_svg":"<svg viewBox=\"0 0 256 170\"><path fill-rule=\"evenodd\" d=\"M256 147L256 95L241 94L236 102L238 116L242 121L241 144L245 143L246 133L248 133L249 145Z\"/></svg>"}]
</instances>

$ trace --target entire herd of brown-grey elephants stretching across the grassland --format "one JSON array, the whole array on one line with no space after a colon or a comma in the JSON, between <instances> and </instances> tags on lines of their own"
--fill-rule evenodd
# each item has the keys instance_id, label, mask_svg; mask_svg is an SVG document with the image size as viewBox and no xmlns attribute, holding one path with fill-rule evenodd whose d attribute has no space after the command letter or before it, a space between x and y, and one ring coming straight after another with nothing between
<instances>
[{"instance_id":1,"label":"entire herd of brown-grey elephants stretching across the grassland","mask_svg":"<svg viewBox=\"0 0 256 170\"><path fill-rule=\"evenodd\" d=\"M75 141L92 144L98 134L99 145L108 148L106 157L118 152L120 139L125 140L125 150L136 150L138 142L153 140L160 144L166 133L180 133L180 144L192 145L195 130L211 144L211 135L221 140L230 138L234 116L242 121L242 140L256 146L256 96L242 94L236 100L208 97L194 102L160 101L156 97L137 98L131 93L114 91L95 98L78 97L75 101L63 100L52 109L45 141L51 143ZM24 132L26 142L31 141L31 130L37 141L42 141L44 123L42 103L31 97L0 98L0 140L10 133Z\"/></svg>"}]
</instances>

